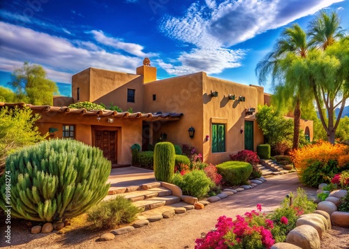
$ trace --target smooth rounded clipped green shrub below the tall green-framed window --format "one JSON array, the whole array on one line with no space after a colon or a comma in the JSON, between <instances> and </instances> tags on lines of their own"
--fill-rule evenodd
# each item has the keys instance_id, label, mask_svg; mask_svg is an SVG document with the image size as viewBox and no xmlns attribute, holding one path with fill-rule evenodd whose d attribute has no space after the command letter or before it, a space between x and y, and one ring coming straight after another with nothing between
<instances>
[{"instance_id":1,"label":"smooth rounded clipped green shrub below the tall green-framed window","mask_svg":"<svg viewBox=\"0 0 349 249\"><path fill-rule=\"evenodd\" d=\"M218 173L223 176L223 181L231 186L246 183L252 172L251 163L228 161L216 166Z\"/></svg>"}]
</instances>

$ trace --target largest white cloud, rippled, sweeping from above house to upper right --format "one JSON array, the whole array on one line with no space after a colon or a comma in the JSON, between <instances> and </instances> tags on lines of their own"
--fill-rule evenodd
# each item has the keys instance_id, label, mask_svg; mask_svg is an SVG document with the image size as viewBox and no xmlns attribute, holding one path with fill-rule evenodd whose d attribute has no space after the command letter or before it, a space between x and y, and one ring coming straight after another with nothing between
<instances>
[{"instance_id":1,"label":"largest white cloud, rippled, sweeping from above house to upper right","mask_svg":"<svg viewBox=\"0 0 349 249\"><path fill-rule=\"evenodd\" d=\"M222 56L221 61L215 67L207 65L207 73L239 66L244 52L239 51L239 56L231 57L236 52L229 50L232 45L341 1L344 0L225 0L218 5L214 0L205 0L206 5L192 3L182 17L164 17L159 29L174 40L192 45L193 49L177 58L179 69L163 61L159 61L159 65L171 74L198 71L202 66L191 65L191 59L199 59L198 54L215 54Z\"/></svg>"}]
</instances>

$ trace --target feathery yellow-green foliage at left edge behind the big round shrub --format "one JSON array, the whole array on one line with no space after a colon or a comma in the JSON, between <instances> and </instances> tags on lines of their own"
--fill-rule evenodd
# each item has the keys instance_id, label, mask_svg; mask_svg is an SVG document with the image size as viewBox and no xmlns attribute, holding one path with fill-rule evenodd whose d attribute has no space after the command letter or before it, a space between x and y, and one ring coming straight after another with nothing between
<instances>
[{"instance_id":1,"label":"feathery yellow-green foliage at left edge behind the big round shrub","mask_svg":"<svg viewBox=\"0 0 349 249\"><path fill-rule=\"evenodd\" d=\"M29 107L0 109L0 175L10 153L45 139L47 135L41 135L35 126L38 119Z\"/></svg>"}]
</instances>

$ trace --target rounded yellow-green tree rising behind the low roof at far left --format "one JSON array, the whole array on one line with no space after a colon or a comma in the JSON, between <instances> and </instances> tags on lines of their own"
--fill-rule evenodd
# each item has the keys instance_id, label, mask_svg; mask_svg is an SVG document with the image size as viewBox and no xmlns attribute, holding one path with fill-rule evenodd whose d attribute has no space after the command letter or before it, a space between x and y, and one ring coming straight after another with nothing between
<instances>
[{"instance_id":1,"label":"rounded yellow-green tree rising behind the low roof at far left","mask_svg":"<svg viewBox=\"0 0 349 249\"><path fill-rule=\"evenodd\" d=\"M17 98L32 105L52 105L53 95L58 94L58 86L47 79L42 66L24 62L22 68L15 68L10 85L15 88Z\"/></svg>"}]
</instances>

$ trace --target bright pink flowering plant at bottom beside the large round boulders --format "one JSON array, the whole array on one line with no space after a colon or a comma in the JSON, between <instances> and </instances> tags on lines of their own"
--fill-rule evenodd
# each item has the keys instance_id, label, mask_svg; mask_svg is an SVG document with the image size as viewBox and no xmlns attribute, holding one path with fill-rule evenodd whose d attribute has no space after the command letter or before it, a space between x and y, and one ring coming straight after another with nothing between
<instances>
[{"instance_id":1,"label":"bright pink flowering plant at bottom beside the large round boulders","mask_svg":"<svg viewBox=\"0 0 349 249\"><path fill-rule=\"evenodd\" d=\"M245 213L232 218L221 216L218 218L216 229L209 232L205 238L196 239L195 248L200 249L257 249L271 248L274 239L271 230L274 228L272 220L261 212L262 206L258 204L258 211Z\"/></svg>"}]
</instances>

